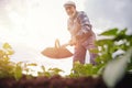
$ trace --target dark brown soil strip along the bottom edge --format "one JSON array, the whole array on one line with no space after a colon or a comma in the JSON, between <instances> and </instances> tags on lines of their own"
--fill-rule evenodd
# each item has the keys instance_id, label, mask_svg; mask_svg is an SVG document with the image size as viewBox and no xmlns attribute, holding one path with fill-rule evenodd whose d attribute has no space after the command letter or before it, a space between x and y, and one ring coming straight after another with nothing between
<instances>
[{"instance_id":1,"label":"dark brown soil strip along the bottom edge","mask_svg":"<svg viewBox=\"0 0 132 88\"><path fill-rule=\"evenodd\" d=\"M102 77L79 77L63 78L61 76L53 77L33 77L23 76L20 80L14 78L1 78L0 88L108 88ZM132 75L127 74L120 80L116 88L132 88Z\"/></svg>"}]
</instances>

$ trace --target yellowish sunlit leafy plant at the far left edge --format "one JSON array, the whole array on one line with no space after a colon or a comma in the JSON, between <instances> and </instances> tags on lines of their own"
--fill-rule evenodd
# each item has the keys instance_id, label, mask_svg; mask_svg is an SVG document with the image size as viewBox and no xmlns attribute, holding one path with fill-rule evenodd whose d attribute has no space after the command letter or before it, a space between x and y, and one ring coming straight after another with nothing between
<instances>
[{"instance_id":1,"label":"yellowish sunlit leafy plant at the far left edge","mask_svg":"<svg viewBox=\"0 0 132 88\"><path fill-rule=\"evenodd\" d=\"M14 77L19 79L22 77L21 64L10 62L10 55L13 53L12 47L8 43L4 43L0 50L0 78Z\"/></svg>"}]
</instances>

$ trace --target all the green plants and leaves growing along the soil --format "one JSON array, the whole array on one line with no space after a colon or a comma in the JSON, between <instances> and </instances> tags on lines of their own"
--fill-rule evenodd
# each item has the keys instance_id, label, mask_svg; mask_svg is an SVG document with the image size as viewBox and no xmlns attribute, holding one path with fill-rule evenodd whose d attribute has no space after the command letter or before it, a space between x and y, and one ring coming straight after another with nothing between
<instances>
[{"instance_id":1,"label":"all the green plants and leaves growing along the soil","mask_svg":"<svg viewBox=\"0 0 132 88\"><path fill-rule=\"evenodd\" d=\"M96 44L98 50L91 50L90 52L98 53L96 58L97 65L85 64L81 65L78 62L75 63L69 75L65 77L78 78L78 77L98 77L102 76L106 84L113 87L125 73L132 74L132 35L127 34L127 29L110 29L102 32L99 36L103 36L101 40L97 40ZM10 62L10 55L14 51L12 47L4 43L0 50L0 78L13 77L20 79L23 76L23 72L26 77L29 75L28 66L37 66L36 64L24 64ZM63 72L59 68L45 69L42 66L42 72L38 72L37 76L52 77L59 75ZM108 80L109 79L109 80Z\"/></svg>"}]
</instances>

